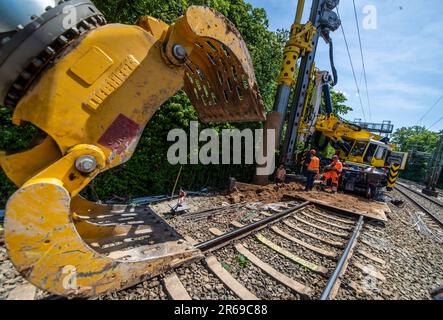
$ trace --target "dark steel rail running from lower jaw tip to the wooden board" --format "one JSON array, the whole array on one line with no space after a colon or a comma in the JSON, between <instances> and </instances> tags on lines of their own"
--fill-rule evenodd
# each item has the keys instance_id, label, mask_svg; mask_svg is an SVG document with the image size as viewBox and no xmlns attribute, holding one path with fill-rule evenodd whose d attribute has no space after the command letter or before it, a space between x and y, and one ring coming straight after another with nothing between
<instances>
[{"instance_id":1,"label":"dark steel rail running from lower jaw tip to the wooden board","mask_svg":"<svg viewBox=\"0 0 443 320\"><path fill-rule=\"evenodd\" d=\"M197 244L195 247L197 249L201 250L202 252L206 252L206 251L210 251L210 250L214 250L214 249L219 249L221 247L228 245L229 243L231 243L234 240L238 240L238 239L246 237L251 232L258 231L264 227L269 226L270 224L278 222L281 219L286 218L290 214L294 213L295 211L305 208L309 204L311 204L311 202L306 201L302 204L299 204L298 206L296 206L294 208L290 208L290 209L285 210L279 214L262 219L260 221L254 222L254 223L249 224L247 226L244 226L242 228L238 228L233 231L227 232L219 237L216 237L211 240Z\"/></svg>"}]
</instances>

